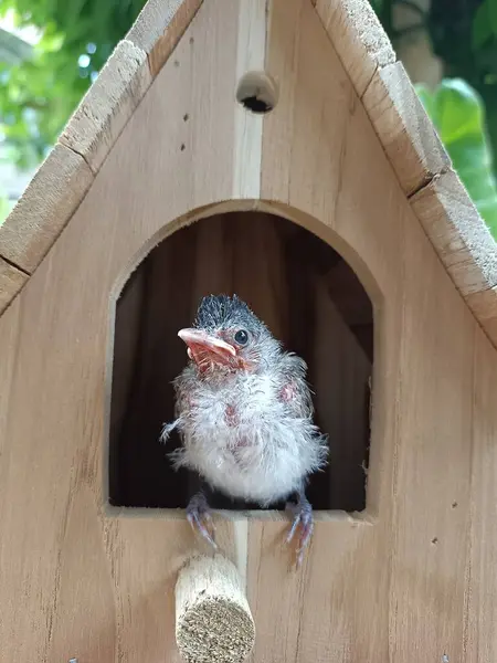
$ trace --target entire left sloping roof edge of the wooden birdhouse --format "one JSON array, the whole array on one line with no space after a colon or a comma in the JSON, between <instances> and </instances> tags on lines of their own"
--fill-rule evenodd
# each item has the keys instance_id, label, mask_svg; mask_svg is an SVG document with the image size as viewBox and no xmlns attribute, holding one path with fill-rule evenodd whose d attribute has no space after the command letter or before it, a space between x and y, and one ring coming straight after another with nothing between
<instances>
[{"instance_id":1,"label":"entire left sloping roof edge of the wooden birdhouse","mask_svg":"<svg viewBox=\"0 0 497 663\"><path fill-rule=\"evenodd\" d=\"M6 280L9 271L3 262L28 275L36 270L202 1L149 0L86 92L0 225L0 313L21 290L19 278Z\"/></svg>"}]
</instances>

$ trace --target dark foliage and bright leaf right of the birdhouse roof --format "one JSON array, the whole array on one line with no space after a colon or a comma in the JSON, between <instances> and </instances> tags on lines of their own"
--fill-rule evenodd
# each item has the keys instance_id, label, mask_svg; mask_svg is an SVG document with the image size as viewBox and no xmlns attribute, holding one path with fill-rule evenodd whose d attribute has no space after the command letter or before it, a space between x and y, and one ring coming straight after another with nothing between
<instances>
[{"instance_id":1,"label":"dark foliage and bright leaf right of the birdhouse roof","mask_svg":"<svg viewBox=\"0 0 497 663\"><path fill-rule=\"evenodd\" d=\"M394 46L404 32L393 27L395 4L419 15L444 63L446 78L430 93L419 86L454 168L497 238L497 0L432 0L427 12L412 0L370 0Z\"/></svg>"}]
</instances>

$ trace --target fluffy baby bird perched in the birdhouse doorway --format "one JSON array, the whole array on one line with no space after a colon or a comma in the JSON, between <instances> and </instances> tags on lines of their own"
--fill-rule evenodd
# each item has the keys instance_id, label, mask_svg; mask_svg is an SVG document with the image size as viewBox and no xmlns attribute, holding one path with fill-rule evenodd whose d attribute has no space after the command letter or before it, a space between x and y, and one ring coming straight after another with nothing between
<instances>
[{"instance_id":1,"label":"fluffy baby bird perched in the birdhouse doorway","mask_svg":"<svg viewBox=\"0 0 497 663\"><path fill-rule=\"evenodd\" d=\"M178 336L190 360L175 380L176 420L161 435L180 434L182 448L170 454L175 467L187 466L213 488L261 507L295 496L286 540L299 528L299 565L314 528L307 477L328 454L327 438L313 422L305 361L284 351L236 295L204 297L193 327ZM202 492L187 517L216 547Z\"/></svg>"}]
</instances>

